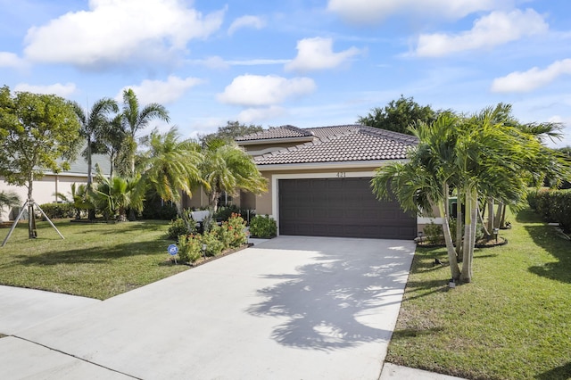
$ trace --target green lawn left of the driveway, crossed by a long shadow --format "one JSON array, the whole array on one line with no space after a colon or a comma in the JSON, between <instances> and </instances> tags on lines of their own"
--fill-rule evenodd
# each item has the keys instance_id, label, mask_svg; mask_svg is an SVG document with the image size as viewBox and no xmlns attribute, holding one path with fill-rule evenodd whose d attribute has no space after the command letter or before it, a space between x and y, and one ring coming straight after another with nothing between
<instances>
[{"instance_id":1,"label":"green lawn left of the driveway, crossed by a long shadow","mask_svg":"<svg viewBox=\"0 0 571 380\"><path fill-rule=\"evenodd\" d=\"M104 300L187 269L170 262L165 221L116 224L56 220L64 240L47 222L37 238L20 224L0 248L0 284ZM8 228L0 229L0 237Z\"/></svg>"}]
</instances>

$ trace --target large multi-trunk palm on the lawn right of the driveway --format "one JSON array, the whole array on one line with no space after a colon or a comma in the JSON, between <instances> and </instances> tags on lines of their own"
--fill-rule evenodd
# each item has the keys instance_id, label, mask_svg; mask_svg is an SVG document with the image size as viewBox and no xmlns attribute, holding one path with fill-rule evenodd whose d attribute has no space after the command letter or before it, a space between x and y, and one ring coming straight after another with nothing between
<instances>
[{"instance_id":1,"label":"large multi-trunk palm on the lawn right of the driveway","mask_svg":"<svg viewBox=\"0 0 571 380\"><path fill-rule=\"evenodd\" d=\"M499 106L470 117L444 112L430 125L418 123L411 128L419 144L411 151L410 161L378 169L372 180L377 197L388 198L391 188L404 210L430 214L432 205L438 206L451 276L463 282L472 280L478 199L493 197L517 204L525 196L529 178L545 172L560 177L569 169L537 138L512 127L504 111ZM448 215L451 188L456 189L459 200L464 199L466 207L464 232L457 239L463 245L456 248Z\"/></svg>"}]
</instances>

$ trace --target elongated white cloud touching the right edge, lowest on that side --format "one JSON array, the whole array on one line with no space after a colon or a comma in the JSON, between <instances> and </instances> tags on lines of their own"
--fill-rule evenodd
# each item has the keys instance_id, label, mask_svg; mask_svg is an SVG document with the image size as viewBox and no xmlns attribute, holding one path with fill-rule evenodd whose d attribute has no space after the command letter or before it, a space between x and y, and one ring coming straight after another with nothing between
<instances>
[{"instance_id":1,"label":"elongated white cloud touching the right edge, lowest on that side","mask_svg":"<svg viewBox=\"0 0 571 380\"><path fill-rule=\"evenodd\" d=\"M505 77L495 78L491 90L494 93L529 92L550 84L564 74L571 74L571 59L553 62L544 70L534 67L527 71L514 71Z\"/></svg>"}]
</instances>

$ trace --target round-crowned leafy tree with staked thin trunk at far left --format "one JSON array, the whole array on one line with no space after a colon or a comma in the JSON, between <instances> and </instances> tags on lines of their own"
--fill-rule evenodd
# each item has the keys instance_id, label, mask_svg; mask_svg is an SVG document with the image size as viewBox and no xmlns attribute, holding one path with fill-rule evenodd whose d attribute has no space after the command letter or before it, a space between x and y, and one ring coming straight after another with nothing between
<instances>
[{"instance_id":1,"label":"round-crowned leafy tree with staked thin trunk at far left","mask_svg":"<svg viewBox=\"0 0 571 380\"><path fill-rule=\"evenodd\" d=\"M11 185L26 186L33 198L34 180L45 170L69 169L79 145L80 125L73 105L56 95L0 89L0 175ZM62 160L61 160L62 159ZM33 204L29 237L36 237Z\"/></svg>"}]
</instances>

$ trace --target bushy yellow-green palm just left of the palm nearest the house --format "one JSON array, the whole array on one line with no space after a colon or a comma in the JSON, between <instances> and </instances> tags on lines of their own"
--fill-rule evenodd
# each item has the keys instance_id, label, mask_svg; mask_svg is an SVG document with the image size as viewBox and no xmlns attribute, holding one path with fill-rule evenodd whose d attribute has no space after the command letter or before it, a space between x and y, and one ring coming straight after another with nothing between
<instances>
[{"instance_id":1,"label":"bushy yellow-green palm just left of the palm nearest the house","mask_svg":"<svg viewBox=\"0 0 571 380\"><path fill-rule=\"evenodd\" d=\"M165 201L180 201L180 191L192 196L191 189L202 184L198 166L203 161L200 146L192 140L179 141L176 127L160 134L156 129L146 138L142 180Z\"/></svg>"}]
</instances>

